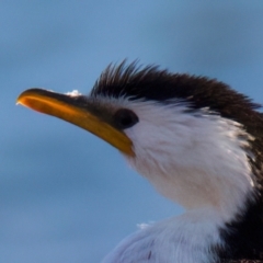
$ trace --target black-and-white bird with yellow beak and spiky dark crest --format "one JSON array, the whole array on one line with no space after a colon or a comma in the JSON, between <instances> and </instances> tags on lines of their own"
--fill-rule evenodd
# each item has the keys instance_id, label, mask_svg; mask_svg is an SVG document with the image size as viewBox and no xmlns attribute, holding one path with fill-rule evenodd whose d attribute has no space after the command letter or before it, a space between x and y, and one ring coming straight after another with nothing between
<instances>
[{"instance_id":1,"label":"black-and-white bird with yellow beak and spiky dark crest","mask_svg":"<svg viewBox=\"0 0 263 263\"><path fill-rule=\"evenodd\" d=\"M105 140L184 207L125 238L103 263L263 262L263 113L247 95L124 60L89 95L33 88L16 102Z\"/></svg>"}]
</instances>

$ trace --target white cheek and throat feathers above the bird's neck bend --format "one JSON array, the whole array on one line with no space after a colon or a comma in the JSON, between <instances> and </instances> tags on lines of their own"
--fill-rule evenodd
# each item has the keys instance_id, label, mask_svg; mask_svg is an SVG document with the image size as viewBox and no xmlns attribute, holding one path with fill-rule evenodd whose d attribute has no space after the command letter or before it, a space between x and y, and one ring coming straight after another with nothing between
<instances>
[{"instance_id":1,"label":"white cheek and throat feathers above the bird's neck bend","mask_svg":"<svg viewBox=\"0 0 263 263\"><path fill-rule=\"evenodd\" d=\"M128 162L186 209L210 208L231 219L254 187L248 160L253 138L242 125L207 108L130 104L140 122L125 130L136 153Z\"/></svg>"}]
</instances>

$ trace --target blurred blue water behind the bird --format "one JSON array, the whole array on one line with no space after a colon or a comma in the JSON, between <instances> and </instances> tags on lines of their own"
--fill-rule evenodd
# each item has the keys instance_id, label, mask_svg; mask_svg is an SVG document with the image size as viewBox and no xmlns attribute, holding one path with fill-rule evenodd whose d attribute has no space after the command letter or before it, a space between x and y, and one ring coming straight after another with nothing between
<instances>
[{"instance_id":1,"label":"blurred blue water behind the bird","mask_svg":"<svg viewBox=\"0 0 263 263\"><path fill-rule=\"evenodd\" d=\"M0 262L100 262L136 224L181 211L100 139L15 106L24 89L88 93L139 58L263 103L261 1L13 0L0 24Z\"/></svg>"}]
</instances>

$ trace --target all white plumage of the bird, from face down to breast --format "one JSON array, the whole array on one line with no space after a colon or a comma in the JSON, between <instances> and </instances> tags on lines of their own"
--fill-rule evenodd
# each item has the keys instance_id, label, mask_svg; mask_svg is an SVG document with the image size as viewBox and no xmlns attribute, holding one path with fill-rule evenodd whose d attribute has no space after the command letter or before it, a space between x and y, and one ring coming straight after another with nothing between
<instances>
[{"instance_id":1,"label":"all white plumage of the bird, from face down to breast","mask_svg":"<svg viewBox=\"0 0 263 263\"><path fill-rule=\"evenodd\" d=\"M136 155L128 162L186 213L130 236L105 262L216 261L210 248L224 245L219 228L253 198L248 155L253 156L247 150L253 138L239 123L207 108L127 100L119 106L139 116L125 129Z\"/></svg>"}]
</instances>

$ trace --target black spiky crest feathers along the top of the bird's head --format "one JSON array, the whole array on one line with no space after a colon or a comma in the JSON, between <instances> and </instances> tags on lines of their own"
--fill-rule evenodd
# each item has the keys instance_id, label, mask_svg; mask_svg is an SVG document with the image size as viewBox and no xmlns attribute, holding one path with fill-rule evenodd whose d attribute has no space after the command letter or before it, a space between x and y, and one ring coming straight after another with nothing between
<instances>
[{"instance_id":1,"label":"black spiky crest feathers along the top of the bird's head","mask_svg":"<svg viewBox=\"0 0 263 263\"><path fill-rule=\"evenodd\" d=\"M96 95L158 102L176 99L190 102L193 108L208 107L221 114L260 107L248 96L215 79L171 73L155 65L141 67L138 61L127 65L126 60L118 66L107 66L91 91L91 96Z\"/></svg>"}]
</instances>

